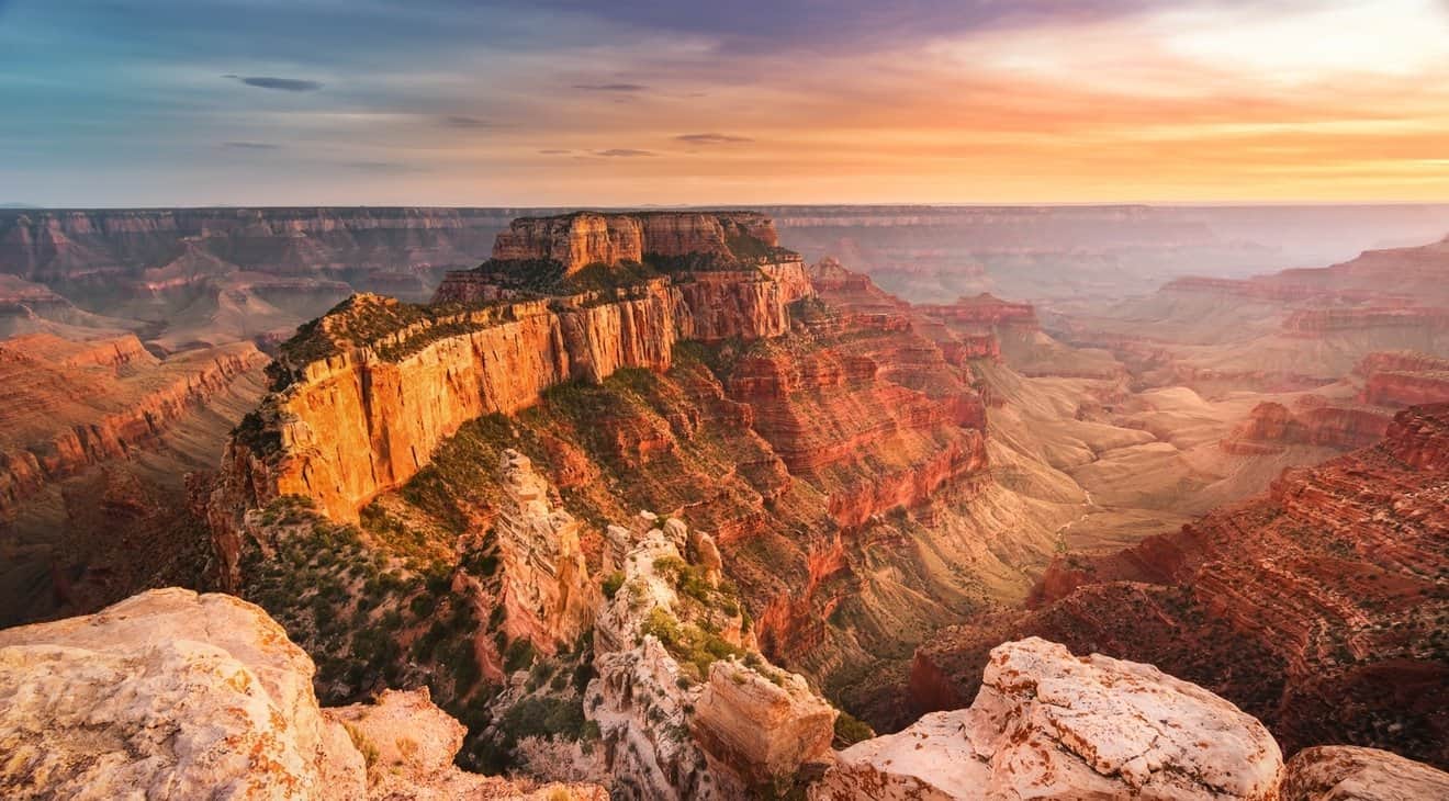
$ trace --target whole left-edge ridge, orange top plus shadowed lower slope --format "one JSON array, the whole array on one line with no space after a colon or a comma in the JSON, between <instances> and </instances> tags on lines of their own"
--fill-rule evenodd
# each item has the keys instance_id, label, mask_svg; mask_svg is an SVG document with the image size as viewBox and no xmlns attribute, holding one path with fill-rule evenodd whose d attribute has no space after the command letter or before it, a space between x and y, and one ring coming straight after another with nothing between
<instances>
[{"instance_id":1,"label":"whole left-edge ridge, orange top plus shadowed lower slope","mask_svg":"<svg viewBox=\"0 0 1449 801\"><path fill-rule=\"evenodd\" d=\"M135 335L0 340L0 626L196 582L184 474L262 394L251 343L159 358Z\"/></svg>"}]
</instances>

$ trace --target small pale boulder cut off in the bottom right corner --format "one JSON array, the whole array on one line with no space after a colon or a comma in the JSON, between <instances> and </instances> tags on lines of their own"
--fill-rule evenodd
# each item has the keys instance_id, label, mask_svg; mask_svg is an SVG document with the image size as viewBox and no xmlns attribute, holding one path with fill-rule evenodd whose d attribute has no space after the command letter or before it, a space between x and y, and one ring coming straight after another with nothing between
<instances>
[{"instance_id":1,"label":"small pale boulder cut off in the bottom right corner","mask_svg":"<svg viewBox=\"0 0 1449 801\"><path fill-rule=\"evenodd\" d=\"M1429 801L1449 798L1449 773L1378 749L1320 746L1288 760L1282 801Z\"/></svg>"}]
</instances>

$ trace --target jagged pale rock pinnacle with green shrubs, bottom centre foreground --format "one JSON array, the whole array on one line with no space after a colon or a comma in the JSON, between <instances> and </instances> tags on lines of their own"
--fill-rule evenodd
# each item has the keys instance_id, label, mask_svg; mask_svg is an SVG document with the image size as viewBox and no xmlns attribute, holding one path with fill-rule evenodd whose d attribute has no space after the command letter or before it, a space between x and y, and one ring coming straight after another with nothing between
<instances>
[{"instance_id":1,"label":"jagged pale rock pinnacle with green shrubs, bottom centre foreground","mask_svg":"<svg viewBox=\"0 0 1449 801\"><path fill-rule=\"evenodd\" d=\"M626 555L596 623L598 678L584 708L603 734L614 791L738 798L788 788L803 763L829 753L835 710L759 656L713 559L684 561L685 550L707 555L707 537L687 548L691 534L672 519L610 536Z\"/></svg>"}]
</instances>

